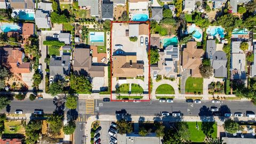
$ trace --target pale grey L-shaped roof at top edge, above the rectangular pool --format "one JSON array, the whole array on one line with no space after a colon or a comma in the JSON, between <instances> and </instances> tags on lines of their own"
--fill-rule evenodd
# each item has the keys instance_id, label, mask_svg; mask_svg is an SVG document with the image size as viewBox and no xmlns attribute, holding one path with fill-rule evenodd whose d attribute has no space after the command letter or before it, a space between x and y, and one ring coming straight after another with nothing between
<instances>
[{"instance_id":1,"label":"pale grey L-shaped roof at top edge, above the rectangular pool","mask_svg":"<svg viewBox=\"0 0 256 144\"><path fill-rule=\"evenodd\" d=\"M99 0L78 0L81 9L90 10L92 17L99 17Z\"/></svg>"}]
</instances>

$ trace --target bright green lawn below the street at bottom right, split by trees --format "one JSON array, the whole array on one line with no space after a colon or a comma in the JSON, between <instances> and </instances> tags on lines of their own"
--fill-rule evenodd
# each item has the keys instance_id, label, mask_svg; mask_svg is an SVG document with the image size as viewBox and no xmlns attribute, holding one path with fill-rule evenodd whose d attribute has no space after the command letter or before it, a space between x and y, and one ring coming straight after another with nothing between
<instances>
[{"instance_id":1,"label":"bright green lawn below the street at bottom right, split by trees","mask_svg":"<svg viewBox=\"0 0 256 144\"><path fill-rule=\"evenodd\" d=\"M190 133L190 140L192 142L203 142L205 139L205 134L202 131L202 122L197 122L198 130L196 129L196 122L187 122L188 123L188 131ZM217 123L213 124L212 138L217 137Z\"/></svg>"}]
</instances>

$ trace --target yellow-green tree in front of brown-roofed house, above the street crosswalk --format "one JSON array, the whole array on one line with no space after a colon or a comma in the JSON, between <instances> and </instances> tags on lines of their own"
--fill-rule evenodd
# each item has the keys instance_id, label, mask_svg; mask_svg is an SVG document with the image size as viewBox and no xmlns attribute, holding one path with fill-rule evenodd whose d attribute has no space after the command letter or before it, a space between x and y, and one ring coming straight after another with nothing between
<instances>
[{"instance_id":1,"label":"yellow-green tree in front of brown-roofed house, above the street crosswalk","mask_svg":"<svg viewBox=\"0 0 256 144\"><path fill-rule=\"evenodd\" d=\"M70 88L76 93L91 93L92 84L84 75L70 75Z\"/></svg>"}]
</instances>

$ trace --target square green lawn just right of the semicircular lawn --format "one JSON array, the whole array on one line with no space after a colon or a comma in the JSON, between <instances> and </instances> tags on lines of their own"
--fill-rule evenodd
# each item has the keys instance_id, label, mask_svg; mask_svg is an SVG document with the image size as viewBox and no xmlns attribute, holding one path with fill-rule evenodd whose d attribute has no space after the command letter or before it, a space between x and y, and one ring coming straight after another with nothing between
<instances>
[{"instance_id":1,"label":"square green lawn just right of the semicircular lawn","mask_svg":"<svg viewBox=\"0 0 256 144\"><path fill-rule=\"evenodd\" d=\"M186 81L185 91L187 94L203 94L203 78L200 77L188 77Z\"/></svg>"}]
</instances>

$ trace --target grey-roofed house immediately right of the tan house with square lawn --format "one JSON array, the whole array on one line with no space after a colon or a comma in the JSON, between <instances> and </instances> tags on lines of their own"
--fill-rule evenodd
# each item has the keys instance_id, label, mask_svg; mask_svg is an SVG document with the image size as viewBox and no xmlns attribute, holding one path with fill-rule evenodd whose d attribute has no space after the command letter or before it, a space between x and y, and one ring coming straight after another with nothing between
<instances>
[{"instance_id":1,"label":"grey-roofed house immediately right of the tan house with square lawn","mask_svg":"<svg viewBox=\"0 0 256 144\"><path fill-rule=\"evenodd\" d=\"M206 58L211 60L214 77L227 77L227 56L223 51L216 51L216 42L213 39L206 41Z\"/></svg>"}]
</instances>

